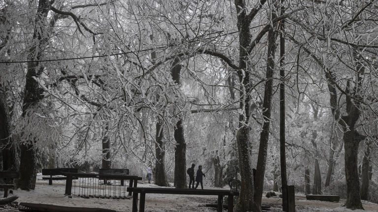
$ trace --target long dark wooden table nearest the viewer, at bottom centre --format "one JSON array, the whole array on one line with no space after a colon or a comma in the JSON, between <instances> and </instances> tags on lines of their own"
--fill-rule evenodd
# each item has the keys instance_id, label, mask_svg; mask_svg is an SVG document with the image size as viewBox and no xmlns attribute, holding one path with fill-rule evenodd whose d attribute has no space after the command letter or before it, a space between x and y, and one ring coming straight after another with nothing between
<instances>
[{"instance_id":1,"label":"long dark wooden table nearest the viewer, at bottom centre","mask_svg":"<svg viewBox=\"0 0 378 212\"><path fill-rule=\"evenodd\" d=\"M233 212L234 196L239 196L239 192L231 190L213 189L178 189L178 188L147 188L147 187L128 187L127 191L132 191L132 212L137 212L138 193L140 193L139 212L144 212L146 193L158 194L182 194L182 195L217 195L218 212L223 211L223 196L228 196L228 212Z\"/></svg>"}]
</instances>

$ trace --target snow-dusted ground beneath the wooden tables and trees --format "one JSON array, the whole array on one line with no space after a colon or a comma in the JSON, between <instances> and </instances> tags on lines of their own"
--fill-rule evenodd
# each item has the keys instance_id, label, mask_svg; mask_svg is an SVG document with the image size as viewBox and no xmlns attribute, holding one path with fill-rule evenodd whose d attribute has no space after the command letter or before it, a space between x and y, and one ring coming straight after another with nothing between
<instances>
[{"instance_id":1,"label":"snow-dusted ground beneath the wooden tables and trees","mask_svg":"<svg viewBox=\"0 0 378 212\"><path fill-rule=\"evenodd\" d=\"M126 183L125 183L126 184ZM17 202L42 203L71 207L90 207L113 209L120 212L130 212L132 199L101 199L101 198L81 198L64 196L65 181L53 181L53 185L48 185L48 181L41 180L38 175L37 184L33 191L15 190L14 195L19 196ZM126 184L128 185L128 184ZM158 187L153 184L139 183L138 187ZM205 189L213 189L205 187ZM2 193L0 192L2 196ZM206 204L215 204L217 196L200 195L171 195L171 194L146 194L146 212L215 212L215 208L207 208ZM263 204L270 205L272 212L280 212L281 199L263 197ZM310 201L303 196L296 197L297 212L348 212L341 207L345 200L339 203ZM378 212L378 205L364 202L365 212ZM17 212L9 206L0 207L0 212ZM350 211L359 212L359 211Z\"/></svg>"}]
</instances>

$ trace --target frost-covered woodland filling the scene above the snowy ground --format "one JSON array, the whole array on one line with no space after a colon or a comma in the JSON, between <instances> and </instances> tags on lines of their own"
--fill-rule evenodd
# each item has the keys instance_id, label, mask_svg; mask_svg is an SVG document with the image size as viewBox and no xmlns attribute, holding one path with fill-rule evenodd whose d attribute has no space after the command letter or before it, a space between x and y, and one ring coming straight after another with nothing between
<instances>
[{"instance_id":1,"label":"frost-covered woodland filling the scene above the snowy ground","mask_svg":"<svg viewBox=\"0 0 378 212\"><path fill-rule=\"evenodd\" d=\"M374 0L0 9L0 169L19 170L20 188L44 167L144 176L151 164L156 184L186 187L195 163L208 185L238 179L236 209L258 211L262 191L281 187L284 133L298 192L338 194L350 209L378 202Z\"/></svg>"}]
</instances>

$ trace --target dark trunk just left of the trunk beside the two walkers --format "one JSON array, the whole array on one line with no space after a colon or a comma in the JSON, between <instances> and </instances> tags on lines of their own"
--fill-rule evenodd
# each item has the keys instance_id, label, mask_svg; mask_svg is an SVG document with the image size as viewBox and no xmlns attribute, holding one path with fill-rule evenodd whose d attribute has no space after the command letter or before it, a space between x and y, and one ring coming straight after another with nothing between
<instances>
[{"instance_id":1,"label":"dark trunk just left of the trunk beside the two walkers","mask_svg":"<svg viewBox=\"0 0 378 212\"><path fill-rule=\"evenodd\" d=\"M165 173L165 143L163 120L158 117L156 122L156 163L155 163L155 184L159 186L169 186Z\"/></svg>"}]
</instances>

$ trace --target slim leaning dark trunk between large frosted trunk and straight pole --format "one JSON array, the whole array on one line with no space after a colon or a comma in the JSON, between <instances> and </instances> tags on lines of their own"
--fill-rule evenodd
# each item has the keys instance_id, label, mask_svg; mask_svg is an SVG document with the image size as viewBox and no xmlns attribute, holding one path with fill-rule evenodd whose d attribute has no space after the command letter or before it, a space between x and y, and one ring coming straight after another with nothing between
<instances>
[{"instance_id":1,"label":"slim leaning dark trunk between large frosted trunk and straight pole","mask_svg":"<svg viewBox=\"0 0 378 212\"><path fill-rule=\"evenodd\" d=\"M271 118L271 106L272 106L272 92L273 92L273 73L275 68L275 53L276 53L276 40L278 33L275 32L275 27L271 27L268 31L268 55L266 61L266 81L264 90L264 101L262 113L264 124L262 126L262 131L260 133L260 145L258 149L258 158L256 166L256 179L255 179L255 193L254 201L257 206L261 206L263 185L264 185L264 174L266 165L266 155L269 141L270 133L270 118ZM282 179L281 179L282 180Z\"/></svg>"}]
</instances>

